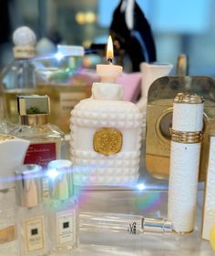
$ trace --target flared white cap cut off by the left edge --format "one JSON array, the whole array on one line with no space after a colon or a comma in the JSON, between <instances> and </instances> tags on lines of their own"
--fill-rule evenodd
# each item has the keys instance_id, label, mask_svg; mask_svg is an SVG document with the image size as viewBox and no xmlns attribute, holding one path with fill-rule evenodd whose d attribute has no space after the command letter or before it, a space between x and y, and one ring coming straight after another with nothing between
<instances>
[{"instance_id":1,"label":"flared white cap cut off by the left edge","mask_svg":"<svg viewBox=\"0 0 215 256\"><path fill-rule=\"evenodd\" d=\"M0 189L15 186L15 169L23 164L30 142L0 134Z\"/></svg>"}]
</instances>

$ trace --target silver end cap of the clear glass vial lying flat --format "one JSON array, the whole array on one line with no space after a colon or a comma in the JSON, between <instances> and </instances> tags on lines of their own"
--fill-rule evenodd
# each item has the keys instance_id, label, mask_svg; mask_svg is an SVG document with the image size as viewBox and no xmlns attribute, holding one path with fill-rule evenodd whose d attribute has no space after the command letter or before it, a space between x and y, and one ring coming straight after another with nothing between
<instances>
[{"instance_id":1,"label":"silver end cap of the clear glass vial lying flat","mask_svg":"<svg viewBox=\"0 0 215 256\"><path fill-rule=\"evenodd\" d=\"M172 232L172 223L170 220L161 218L143 218L142 232L170 233Z\"/></svg>"}]
</instances>

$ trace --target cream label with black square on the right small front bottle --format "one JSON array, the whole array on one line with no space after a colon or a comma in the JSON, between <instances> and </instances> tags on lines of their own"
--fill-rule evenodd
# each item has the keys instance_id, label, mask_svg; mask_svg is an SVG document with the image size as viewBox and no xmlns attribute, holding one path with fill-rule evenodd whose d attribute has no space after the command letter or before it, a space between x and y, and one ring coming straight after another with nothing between
<instances>
[{"instance_id":1,"label":"cream label with black square on the right small front bottle","mask_svg":"<svg viewBox=\"0 0 215 256\"><path fill-rule=\"evenodd\" d=\"M76 211L67 210L56 214L57 243L63 244L74 241Z\"/></svg>"}]
</instances>

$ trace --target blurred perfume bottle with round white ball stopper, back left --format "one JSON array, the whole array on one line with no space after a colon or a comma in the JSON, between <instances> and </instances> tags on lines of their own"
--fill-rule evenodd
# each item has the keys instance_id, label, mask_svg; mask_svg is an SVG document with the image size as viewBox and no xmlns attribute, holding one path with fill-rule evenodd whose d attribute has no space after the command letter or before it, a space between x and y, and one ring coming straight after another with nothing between
<instances>
[{"instance_id":1,"label":"blurred perfume bottle with round white ball stopper, back left","mask_svg":"<svg viewBox=\"0 0 215 256\"><path fill-rule=\"evenodd\" d=\"M13 35L15 60L4 68L1 77L5 118L18 121L17 94L35 94L36 76L32 58L36 56L35 33L26 26L17 28Z\"/></svg>"}]
</instances>

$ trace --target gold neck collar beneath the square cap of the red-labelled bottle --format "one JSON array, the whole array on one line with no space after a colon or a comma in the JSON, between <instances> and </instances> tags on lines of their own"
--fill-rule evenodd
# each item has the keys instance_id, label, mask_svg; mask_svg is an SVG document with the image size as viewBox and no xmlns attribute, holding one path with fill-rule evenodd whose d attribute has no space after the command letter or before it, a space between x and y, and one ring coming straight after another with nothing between
<instances>
[{"instance_id":1,"label":"gold neck collar beneath the square cap of the red-labelled bottle","mask_svg":"<svg viewBox=\"0 0 215 256\"><path fill-rule=\"evenodd\" d=\"M39 126L46 125L47 115L29 115L29 116L20 116L21 125L25 126Z\"/></svg>"}]
</instances>

